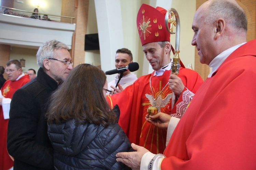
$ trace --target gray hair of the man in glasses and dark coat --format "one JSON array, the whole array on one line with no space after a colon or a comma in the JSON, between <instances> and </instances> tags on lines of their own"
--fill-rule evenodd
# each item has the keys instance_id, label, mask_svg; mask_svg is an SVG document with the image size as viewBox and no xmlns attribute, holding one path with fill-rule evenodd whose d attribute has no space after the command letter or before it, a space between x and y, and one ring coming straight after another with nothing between
<instances>
[{"instance_id":1,"label":"gray hair of the man in glasses and dark coat","mask_svg":"<svg viewBox=\"0 0 256 170\"><path fill-rule=\"evenodd\" d=\"M37 64L39 65L39 67L44 68L44 59L55 58L54 49L61 48L69 50L69 47L66 44L61 43L57 40L45 42L37 51Z\"/></svg>"}]
</instances>

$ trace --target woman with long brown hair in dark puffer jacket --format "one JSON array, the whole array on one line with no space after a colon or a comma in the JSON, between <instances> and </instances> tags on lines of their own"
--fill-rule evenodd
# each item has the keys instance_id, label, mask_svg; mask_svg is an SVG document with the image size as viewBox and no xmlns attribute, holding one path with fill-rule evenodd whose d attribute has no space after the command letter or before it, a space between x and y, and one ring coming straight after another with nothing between
<instances>
[{"instance_id":1,"label":"woman with long brown hair in dark puffer jacket","mask_svg":"<svg viewBox=\"0 0 256 170\"><path fill-rule=\"evenodd\" d=\"M46 116L56 169L128 169L116 162L131 145L105 99L107 87L100 68L80 64L52 94Z\"/></svg>"}]
</instances>

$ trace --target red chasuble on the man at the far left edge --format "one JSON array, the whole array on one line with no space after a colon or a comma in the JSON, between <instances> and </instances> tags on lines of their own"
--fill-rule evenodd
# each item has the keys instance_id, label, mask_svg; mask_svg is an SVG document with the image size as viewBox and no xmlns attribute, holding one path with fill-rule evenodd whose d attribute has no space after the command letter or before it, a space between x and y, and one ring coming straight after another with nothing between
<instances>
[{"instance_id":1,"label":"red chasuble on the man at the far left edge","mask_svg":"<svg viewBox=\"0 0 256 170\"><path fill-rule=\"evenodd\" d=\"M2 95L5 98L12 98L14 92L22 87L24 84L29 82L30 79L26 76L20 77L17 81L11 81L7 80L3 84L3 87L1 88ZM9 119L3 118L3 109L2 106L0 106L0 169L1 170L7 170L13 167L13 160L9 156L7 152L7 126L8 126Z\"/></svg>"}]
</instances>

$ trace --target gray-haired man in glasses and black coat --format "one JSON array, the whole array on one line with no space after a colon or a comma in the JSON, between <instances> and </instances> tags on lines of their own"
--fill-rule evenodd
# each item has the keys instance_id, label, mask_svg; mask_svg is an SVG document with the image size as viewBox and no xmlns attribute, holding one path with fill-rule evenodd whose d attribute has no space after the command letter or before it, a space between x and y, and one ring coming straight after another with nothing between
<instances>
[{"instance_id":1,"label":"gray-haired man in glasses and black coat","mask_svg":"<svg viewBox=\"0 0 256 170\"><path fill-rule=\"evenodd\" d=\"M37 77L13 95L7 149L14 169L54 169L45 113L49 95L73 69L68 46L45 42L37 52Z\"/></svg>"}]
</instances>

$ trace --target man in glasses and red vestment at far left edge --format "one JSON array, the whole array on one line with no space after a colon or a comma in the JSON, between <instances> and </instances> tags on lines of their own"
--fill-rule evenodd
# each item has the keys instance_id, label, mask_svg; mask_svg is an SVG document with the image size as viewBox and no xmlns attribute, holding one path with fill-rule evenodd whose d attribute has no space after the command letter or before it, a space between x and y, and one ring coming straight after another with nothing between
<instances>
[{"instance_id":1,"label":"man in glasses and red vestment at far left edge","mask_svg":"<svg viewBox=\"0 0 256 170\"><path fill-rule=\"evenodd\" d=\"M18 60L12 59L6 63L5 73L8 80L5 81L0 92L0 169L10 169L13 160L6 149L7 126L9 122L9 110L13 93L30 81L24 73Z\"/></svg>"}]
</instances>

